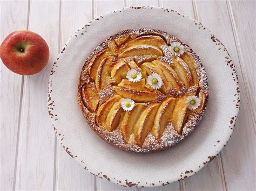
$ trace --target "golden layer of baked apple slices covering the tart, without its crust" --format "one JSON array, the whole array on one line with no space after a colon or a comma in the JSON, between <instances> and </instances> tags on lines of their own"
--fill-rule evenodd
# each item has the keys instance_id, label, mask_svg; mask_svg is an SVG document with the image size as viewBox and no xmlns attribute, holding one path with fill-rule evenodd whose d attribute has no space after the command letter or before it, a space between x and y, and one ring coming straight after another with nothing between
<instances>
[{"instance_id":1,"label":"golden layer of baked apple slices covering the tart, without its crust","mask_svg":"<svg viewBox=\"0 0 256 191\"><path fill-rule=\"evenodd\" d=\"M86 66L90 82L82 88L83 103L95 113L97 126L110 132L119 129L126 143L139 147L149 133L160 142L170 124L181 135L184 123L203 112L208 93L200 87L194 59L178 45L170 50L170 43L153 34L109 40ZM136 82L127 79L130 70L136 71L134 79L141 75ZM159 88L150 84L151 75L159 77ZM190 108L196 103L188 102L191 96L198 102L196 109ZM125 99L134 101L132 110L122 108Z\"/></svg>"}]
</instances>

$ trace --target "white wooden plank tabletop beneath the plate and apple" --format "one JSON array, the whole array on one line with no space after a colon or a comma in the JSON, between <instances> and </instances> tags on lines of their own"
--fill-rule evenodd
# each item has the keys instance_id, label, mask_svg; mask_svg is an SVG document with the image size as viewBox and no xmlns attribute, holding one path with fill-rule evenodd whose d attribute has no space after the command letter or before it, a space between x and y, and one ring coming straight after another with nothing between
<instances>
[{"instance_id":1,"label":"white wooden plank tabletop beneath the plate and apple","mask_svg":"<svg viewBox=\"0 0 256 191\"><path fill-rule=\"evenodd\" d=\"M52 64L73 32L111 10L142 5L184 13L224 43L237 67L241 107L230 142L196 175L164 187L125 188L96 178L63 150L46 97ZM48 66L36 75L14 74L0 61L0 189L255 190L255 10L249 0L0 0L1 42L12 31L31 30L50 47Z\"/></svg>"}]
</instances>

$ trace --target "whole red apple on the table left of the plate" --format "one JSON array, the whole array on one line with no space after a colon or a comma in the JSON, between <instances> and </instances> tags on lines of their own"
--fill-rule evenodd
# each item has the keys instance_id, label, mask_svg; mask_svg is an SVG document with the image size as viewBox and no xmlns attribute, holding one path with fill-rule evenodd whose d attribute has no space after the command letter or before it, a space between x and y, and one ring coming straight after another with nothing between
<instances>
[{"instance_id":1,"label":"whole red apple on the table left of the plate","mask_svg":"<svg viewBox=\"0 0 256 191\"><path fill-rule=\"evenodd\" d=\"M49 60L49 47L45 40L31 31L14 31L3 41L0 56L12 72L32 75L40 72Z\"/></svg>"}]
</instances>

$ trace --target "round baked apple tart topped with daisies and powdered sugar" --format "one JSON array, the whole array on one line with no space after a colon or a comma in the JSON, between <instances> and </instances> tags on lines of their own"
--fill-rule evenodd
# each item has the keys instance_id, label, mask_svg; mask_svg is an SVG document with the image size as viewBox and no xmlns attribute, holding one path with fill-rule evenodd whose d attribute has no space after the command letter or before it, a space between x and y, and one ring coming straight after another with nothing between
<instances>
[{"instance_id":1,"label":"round baked apple tart topped with daisies and powdered sugar","mask_svg":"<svg viewBox=\"0 0 256 191\"><path fill-rule=\"evenodd\" d=\"M209 95L199 56L177 37L151 29L114 34L86 59L78 103L106 142L154 152L189 135Z\"/></svg>"}]
</instances>

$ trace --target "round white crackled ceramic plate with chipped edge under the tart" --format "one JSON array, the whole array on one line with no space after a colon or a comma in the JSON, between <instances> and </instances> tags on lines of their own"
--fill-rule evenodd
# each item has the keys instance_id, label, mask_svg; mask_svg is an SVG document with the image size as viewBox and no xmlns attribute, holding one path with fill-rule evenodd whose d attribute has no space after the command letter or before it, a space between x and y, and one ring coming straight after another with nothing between
<instances>
[{"instance_id":1,"label":"round white crackled ceramic plate with chipped edge under the tart","mask_svg":"<svg viewBox=\"0 0 256 191\"><path fill-rule=\"evenodd\" d=\"M86 123L77 102L80 71L93 49L125 29L173 34L199 55L210 97L203 120L183 142L156 153L129 153L107 144ZM78 30L60 52L49 81L49 114L64 149L92 174L124 186L160 186L184 179L213 160L230 138L239 110L237 72L208 29L180 13L152 7L107 13Z\"/></svg>"}]
</instances>

